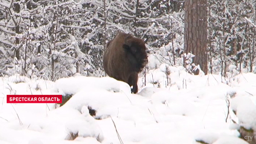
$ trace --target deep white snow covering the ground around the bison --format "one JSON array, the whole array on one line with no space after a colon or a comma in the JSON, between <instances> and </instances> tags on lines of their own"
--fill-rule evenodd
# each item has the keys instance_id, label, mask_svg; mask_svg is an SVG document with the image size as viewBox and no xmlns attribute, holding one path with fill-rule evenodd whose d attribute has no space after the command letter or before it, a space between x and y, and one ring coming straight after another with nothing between
<instances>
[{"instance_id":1,"label":"deep white snow covering the ground around the bison","mask_svg":"<svg viewBox=\"0 0 256 144\"><path fill-rule=\"evenodd\" d=\"M168 67L167 77L165 68L148 72L144 87L139 79L138 94L110 77L78 75L56 82L0 77L0 144L247 144L231 119L245 128L256 124L256 74L224 79ZM7 94L73 96L56 108L52 103L6 103ZM94 117L88 106L96 110Z\"/></svg>"}]
</instances>

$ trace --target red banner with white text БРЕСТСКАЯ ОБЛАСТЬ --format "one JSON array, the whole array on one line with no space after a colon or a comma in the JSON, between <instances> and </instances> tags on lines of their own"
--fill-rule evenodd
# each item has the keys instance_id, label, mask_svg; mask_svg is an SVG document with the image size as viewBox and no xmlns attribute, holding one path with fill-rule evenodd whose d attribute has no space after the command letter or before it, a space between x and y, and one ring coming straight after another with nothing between
<instances>
[{"instance_id":1,"label":"red banner with white text \u0411\u0420\u0415\u0421\u0422\u0421\u041a\u0410\u042f \u041e\u0411\u041b\u0410\u0421\u0422\u042c","mask_svg":"<svg viewBox=\"0 0 256 144\"><path fill-rule=\"evenodd\" d=\"M7 103L62 103L62 95L7 95Z\"/></svg>"}]
</instances>

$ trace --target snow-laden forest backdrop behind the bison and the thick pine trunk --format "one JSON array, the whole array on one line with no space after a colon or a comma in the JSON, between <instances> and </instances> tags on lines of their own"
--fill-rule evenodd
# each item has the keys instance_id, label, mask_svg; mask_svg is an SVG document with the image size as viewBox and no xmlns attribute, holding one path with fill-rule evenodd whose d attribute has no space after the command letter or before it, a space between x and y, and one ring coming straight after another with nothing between
<instances>
[{"instance_id":1,"label":"snow-laden forest backdrop behind the bison and the thick pine trunk","mask_svg":"<svg viewBox=\"0 0 256 144\"><path fill-rule=\"evenodd\" d=\"M102 76L103 49L118 30L147 42L155 61L147 70L161 63L183 65L185 5L181 0L1 0L0 73L49 80L75 73ZM208 73L226 76L229 66L256 72L256 2L208 0L205 7Z\"/></svg>"}]
</instances>

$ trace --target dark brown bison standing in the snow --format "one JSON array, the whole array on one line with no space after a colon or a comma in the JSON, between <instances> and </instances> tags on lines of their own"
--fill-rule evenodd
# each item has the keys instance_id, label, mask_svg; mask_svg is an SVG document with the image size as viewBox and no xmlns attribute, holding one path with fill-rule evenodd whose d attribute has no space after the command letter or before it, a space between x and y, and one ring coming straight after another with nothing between
<instances>
[{"instance_id":1,"label":"dark brown bison standing in the snow","mask_svg":"<svg viewBox=\"0 0 256 144\"><path fill-rule=\"evenodd\" d=\"M103 56L103 68L108 76L133 86L138 92L138 75L148 63L146 46L142 39L119 32L107 43Z\"/></svg>"}]
</instances>

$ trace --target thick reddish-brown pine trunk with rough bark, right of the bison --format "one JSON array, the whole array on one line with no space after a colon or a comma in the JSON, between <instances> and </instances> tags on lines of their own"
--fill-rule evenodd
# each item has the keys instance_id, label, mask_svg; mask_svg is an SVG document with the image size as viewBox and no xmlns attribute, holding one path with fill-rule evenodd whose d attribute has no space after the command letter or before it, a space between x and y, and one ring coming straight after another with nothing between
<instances>
[{"instance_id":1,"label":"thick reddish-brown pine trunk with rough bark, right of the bison","mask_svg":"<svg viewBox=\"0 0 256 144\"><path fill-rule=\"evenodd\" d=\"M184 51L207 74L207 0L185 0Z\"/></svg>"}]
</instances>

